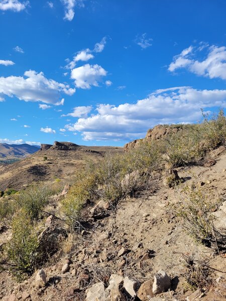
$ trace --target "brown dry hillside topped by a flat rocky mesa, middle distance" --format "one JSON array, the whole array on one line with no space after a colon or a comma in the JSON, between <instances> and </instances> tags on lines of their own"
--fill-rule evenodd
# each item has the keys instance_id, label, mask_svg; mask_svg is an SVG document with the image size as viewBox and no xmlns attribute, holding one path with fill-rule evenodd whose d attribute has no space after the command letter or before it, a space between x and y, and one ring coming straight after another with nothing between
<instances>
[{"instance_id":1,"label":"brown dry hillside topped by a flat rocky mesa, middle distance","mask_svg":"<svg viewBox=\"0 0 226 301\"><path fill-rule=\"evenodd\" d=\"M32 147L31 149L38 149ZM25 149L26 146L24 152ZM29 157L10 165L0 165L0 190L18 190L32 182L72 176L84 166L85 160L96 161L108 150L123 152L121 147L87 147L58 141L55 141L54 145L42 144L41 149L35 150ZM47 157L47 160L44 157Z\"/></svg>"}]
</instances>

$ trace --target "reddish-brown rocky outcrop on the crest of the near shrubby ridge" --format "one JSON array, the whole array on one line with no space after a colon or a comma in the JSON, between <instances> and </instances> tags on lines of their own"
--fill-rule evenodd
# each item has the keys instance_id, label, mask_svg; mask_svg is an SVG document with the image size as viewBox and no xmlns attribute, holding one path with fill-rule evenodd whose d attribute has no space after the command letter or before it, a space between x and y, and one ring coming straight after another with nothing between
<instances>
[{"instance_id":1,"label":"reddish-brown rocky outcrop on the crest of the near shrubby ridge","mask_svg":"<svg viewBox=\"0 0 226 301\"><path fill-rule=\"evenodd\" d=\"M182 126L167 126L167 125L156 125L153 128L150 128L147 131L145 138L136 139L132 142L126 143L124 146L125 152L129 152L130 149L136 148L140 142L142 141L152 141L152 140L160 140L163 139L167 135L175 134L178 131L182 130Z\"/></svg>"}]
</instances>

